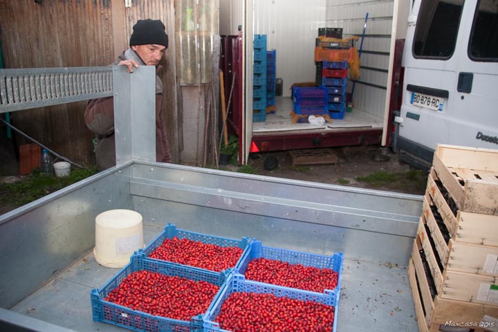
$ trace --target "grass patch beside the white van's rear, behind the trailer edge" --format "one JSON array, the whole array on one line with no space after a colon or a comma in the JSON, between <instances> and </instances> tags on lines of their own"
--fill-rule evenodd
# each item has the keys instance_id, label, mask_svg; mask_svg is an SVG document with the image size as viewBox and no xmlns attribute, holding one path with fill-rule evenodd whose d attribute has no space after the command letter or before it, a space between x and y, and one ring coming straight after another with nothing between
<instances>
[{"instance_id":1,"label":"grass patch beside the white van's rear, behind the trailer edge","mask_svg":"<svg viewBox=\"0 0 498 332\"><path fill-rule=\"evenodd\" d=\"M396 173L379 171L367 176L358 176L356 181L367 183L374 188L385 187L389 190L409 188L411 191L423 193L427 187L427 174L419 169Z\"/></svg>"}]
</instances>

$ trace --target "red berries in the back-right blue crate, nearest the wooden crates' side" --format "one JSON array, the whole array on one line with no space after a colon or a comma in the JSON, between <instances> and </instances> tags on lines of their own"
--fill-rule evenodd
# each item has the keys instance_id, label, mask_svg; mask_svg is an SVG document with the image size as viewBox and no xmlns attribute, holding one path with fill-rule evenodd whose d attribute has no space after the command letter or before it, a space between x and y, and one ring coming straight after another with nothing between
<instances>
[{"instance_id":1,"label":"red berries in the back-right blue crate, nearest the wooden crates' side","mask_svg":"<svg viewBox=\"0 0 498 332\"><path fill-rule=\"evenodd\" d=\"M289 264L276 259L256 258L250 261L246 279L278 286L292 287L323 293L338 284L338 273L330 268L315 268L302 264Z\"/></svg>"}]
</instances>

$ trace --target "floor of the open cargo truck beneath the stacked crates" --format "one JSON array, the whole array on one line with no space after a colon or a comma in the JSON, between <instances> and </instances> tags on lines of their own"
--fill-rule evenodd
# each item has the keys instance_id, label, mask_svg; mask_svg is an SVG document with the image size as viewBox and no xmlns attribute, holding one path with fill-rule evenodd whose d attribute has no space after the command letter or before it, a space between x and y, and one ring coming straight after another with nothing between
<instances>
[{"instance_id":1,"label":"floor of the open cargo truck beneath the stacked crates","mask_svg":"<svg viewBox=\"0 0 498 332\"><path fill-rule=\"evenodd\" d=\"M309 123L293 123L291 111L293 109L293 100L291 97L275 98L277 111L273 114L266 114L266 121L253 122L252 133L267 134L279 131L332 131L334 129L380 129L384 125L382 118L374 116L360 109L353 109L351 112L344 113L344 118L332 119L332 122L326 122L323 126L316 126Z\"/></svg>"}]
</instances>

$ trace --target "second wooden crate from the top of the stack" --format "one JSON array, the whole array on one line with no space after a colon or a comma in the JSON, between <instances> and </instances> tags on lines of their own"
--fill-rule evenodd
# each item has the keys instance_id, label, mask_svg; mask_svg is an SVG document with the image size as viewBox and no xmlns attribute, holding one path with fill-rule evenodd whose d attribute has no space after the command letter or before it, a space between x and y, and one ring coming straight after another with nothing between
<instances>
[{"instance_id":1,"label":"second wooden crate from the top of the stack","mask_svg":"<svg viewBox=\"0 0 498 332\"><path fill-rule=\"evenodd\" d=\"M448 202L447 197L443 195L438 186L439 174L436 174L434 168L427 178L427 192L430 194L434 205L436 205L439 214L450 232L453 239L465 241L468 243L479 243L491 246L498 245L498 217L490 214L477 214L464 212L450 208L452 199ZM448 196L448 195L446 195Z\"/></svg>"}]
</instances>

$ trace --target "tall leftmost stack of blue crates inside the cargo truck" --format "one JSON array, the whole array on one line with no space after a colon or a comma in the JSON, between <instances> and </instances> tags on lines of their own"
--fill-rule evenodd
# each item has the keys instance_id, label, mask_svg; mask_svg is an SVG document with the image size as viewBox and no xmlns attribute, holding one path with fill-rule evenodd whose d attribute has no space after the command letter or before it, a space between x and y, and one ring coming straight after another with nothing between
<instances>
[{"instance_id":1,"label":"tall leftmost stack of blue crates inside the cargo truck","mask_svg":"<svg viewBox=\"0 0 498 332\"><path fill-rule=\"evenodd\" d=\"M252 120L266 121L266 35L254 36Z\"/></svg>"}]
</instances>

